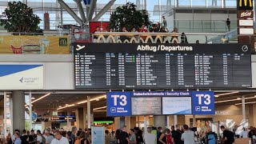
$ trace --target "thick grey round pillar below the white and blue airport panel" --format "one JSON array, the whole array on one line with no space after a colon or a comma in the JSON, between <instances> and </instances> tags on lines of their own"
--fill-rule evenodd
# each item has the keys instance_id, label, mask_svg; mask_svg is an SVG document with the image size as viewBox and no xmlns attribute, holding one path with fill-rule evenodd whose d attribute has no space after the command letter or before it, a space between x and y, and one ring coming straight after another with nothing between
<instances>
[{"instance_id":1,"label":"thick grey round pillar below the white and blue airport panel","mask_svg":"<svg viewBox=\"0 0 256 144\"><path fill-rule=\"evenodd\" d=\"M14 91L13 98L13 130L25 129L25 93L24 91Z\"/></svg>"}]
</instances>

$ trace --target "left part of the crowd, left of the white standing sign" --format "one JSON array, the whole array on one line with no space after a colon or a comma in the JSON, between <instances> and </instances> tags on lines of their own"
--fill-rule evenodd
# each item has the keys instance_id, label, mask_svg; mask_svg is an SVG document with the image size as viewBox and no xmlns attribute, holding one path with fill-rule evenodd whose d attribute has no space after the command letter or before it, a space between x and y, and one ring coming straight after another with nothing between
<instances>
[{"instance_id":1,"label":"left part of the crowd, left of the white standing sign","mask_svg":"<svg viewBox=\"0 0 256 144\"><path fill-rule=\"evenodd\" d=\"M74 126L71 131L56 130L55 128L26 131L15 130L14 135L7 138L8 144L90 144L90 129L82 131Z\"/></svg>"}]
</instances>

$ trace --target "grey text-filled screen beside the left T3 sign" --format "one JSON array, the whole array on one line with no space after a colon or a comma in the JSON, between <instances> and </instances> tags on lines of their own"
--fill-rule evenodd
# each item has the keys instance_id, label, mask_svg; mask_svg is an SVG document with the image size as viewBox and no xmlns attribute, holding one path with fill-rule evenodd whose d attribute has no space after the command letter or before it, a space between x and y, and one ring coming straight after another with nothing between
<instances>
[{"instance_id":1,"label":"grey text-filled screen beside the left T3 sign","mask_svg":"<svg viewBox=\"0 0 256 144\"><path fill-rule=\"evenodd\" d=\"M132 115L162 114L161 107L161 97L131 98Z\"/></svg>"}]
</instances>

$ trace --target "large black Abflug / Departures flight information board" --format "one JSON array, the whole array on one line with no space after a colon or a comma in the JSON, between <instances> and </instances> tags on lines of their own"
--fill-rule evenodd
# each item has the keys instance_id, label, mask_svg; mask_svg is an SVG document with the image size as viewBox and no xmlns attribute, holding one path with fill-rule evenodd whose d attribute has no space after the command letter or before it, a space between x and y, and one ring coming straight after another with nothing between
<instances>
[{"instance_id":1,"label":"large black Abflug / Departures flight information board","mask_svg":"<svg viewBox=\"0 0 256 144\"><path fill-rule=\"evenodd\" d=\"M246 89L250 59L243 44L74 43L75 88Z\"/></svg>"}]
</instances>

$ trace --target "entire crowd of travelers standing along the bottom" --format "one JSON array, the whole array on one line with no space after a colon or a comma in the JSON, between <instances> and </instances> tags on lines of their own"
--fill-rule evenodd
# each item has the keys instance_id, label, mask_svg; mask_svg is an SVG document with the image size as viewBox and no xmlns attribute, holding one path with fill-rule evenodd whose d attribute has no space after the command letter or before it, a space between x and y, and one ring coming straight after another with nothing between
<instances>
[{"instance_id":1,"label":"entire crowd of travelers standing along the bottom","mask_svg":"<svg viewBox=\"0 0 256 144\"><path fill-rule=\"evenodd\" d=\"M145 130L134 127L128 129L122 126L121 129L112 131L105 130L105 144L233 144L235 138L251 138L251 144L256 143L256 129L250 127L250 131L243 129L241 134L236 134L237 127L233 131L227 130L225 126L220 126L221 136L213 132L210 126L206 124L199 133L196 128L187 125L171 126L170 129L148 127ZM153 130L157 133L153 134ZM198 141L199 138L199 141ZM91 144L91 130L82 130L74 126L71 131L56 130L55 128L46 129L41 133L37 130L14 131L14 135L9 138L8 144Z\"/></svg>"}]
</instances>

